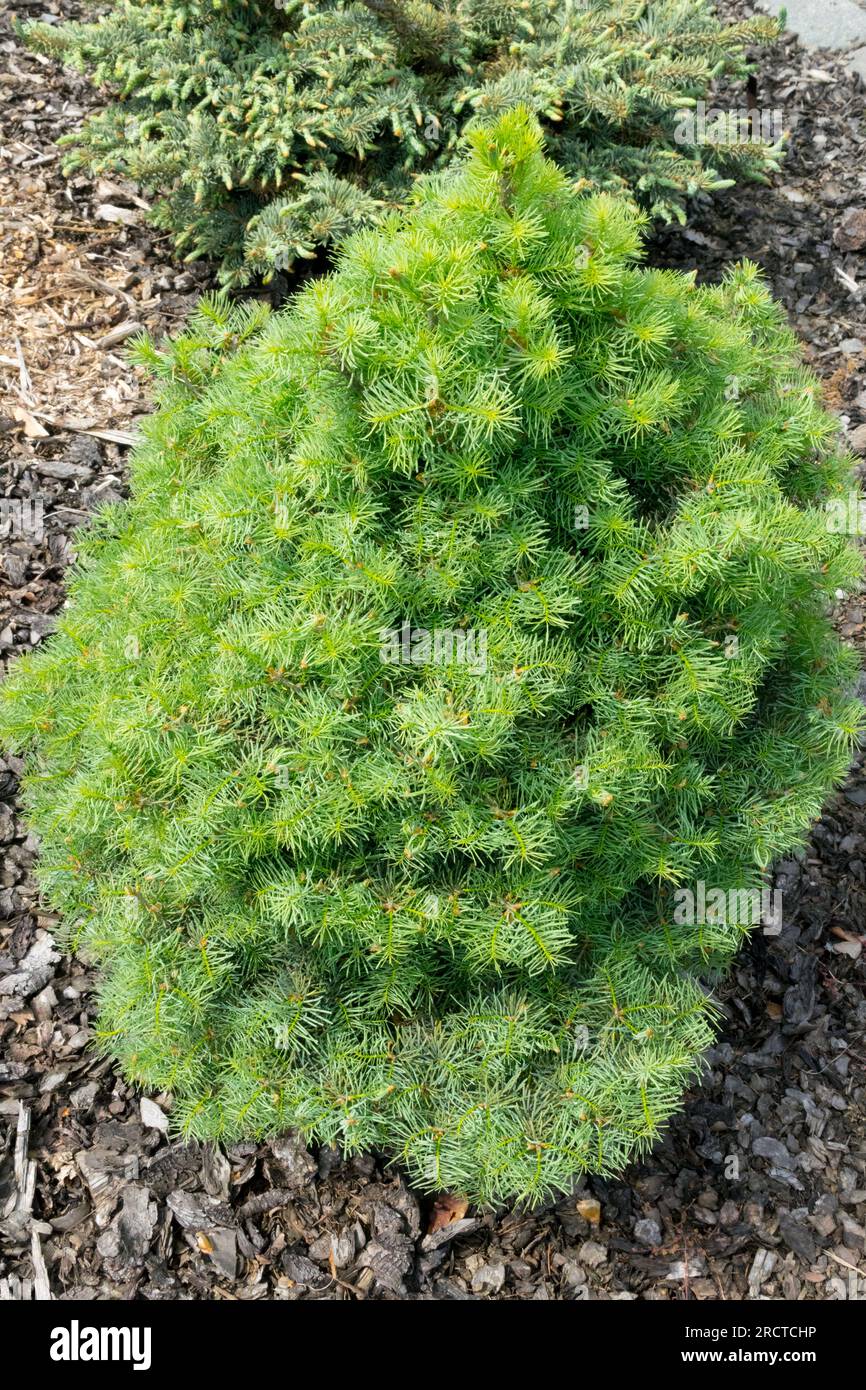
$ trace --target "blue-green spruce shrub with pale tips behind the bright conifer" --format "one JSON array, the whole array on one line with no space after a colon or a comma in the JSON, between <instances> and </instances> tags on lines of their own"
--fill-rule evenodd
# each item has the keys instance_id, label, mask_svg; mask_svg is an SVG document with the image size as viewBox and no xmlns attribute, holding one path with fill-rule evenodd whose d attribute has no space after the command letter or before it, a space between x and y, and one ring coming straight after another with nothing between
<instances>
[{"instance_id":1,"label":"blue-green spruce shrub with pale tips behind the bright conifer","mask_svg":"<svg viewBox=\"0 0 866 1390\"><path fill-rule=\"evenodd\" d=\"M723 26L706 0L117 0L96 24L25 32L115 93L65 138L67 168L136 179L157 225L189 260L220 259L227 284L402 204L474 115L517 103L550 122L573 177L662 218L723 174L765 178L780 153L749 131L678 143L677 110L778 32Z\"/></svg>"}]
</instances>

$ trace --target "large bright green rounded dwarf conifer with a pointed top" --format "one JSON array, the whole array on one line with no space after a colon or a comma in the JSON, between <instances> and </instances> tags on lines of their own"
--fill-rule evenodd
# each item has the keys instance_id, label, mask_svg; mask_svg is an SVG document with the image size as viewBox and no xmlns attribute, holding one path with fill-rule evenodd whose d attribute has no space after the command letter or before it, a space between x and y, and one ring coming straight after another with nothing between
<instances>
[{"instance_id":1,"label":"large bright green rounded dwarf conifer with a pointed top","mask_svg":"<svg viewBox=\"0 0 866 1390\"><path fill-rule=\"evenodd\" d=\"M674 891L759 885L862 716L780 309L641 268L541 145L510 113L288 310L138 346L132 499L0 701L126 1076L491 1202L653 1143L745 934Z\"/></svg>"}]
</instances>

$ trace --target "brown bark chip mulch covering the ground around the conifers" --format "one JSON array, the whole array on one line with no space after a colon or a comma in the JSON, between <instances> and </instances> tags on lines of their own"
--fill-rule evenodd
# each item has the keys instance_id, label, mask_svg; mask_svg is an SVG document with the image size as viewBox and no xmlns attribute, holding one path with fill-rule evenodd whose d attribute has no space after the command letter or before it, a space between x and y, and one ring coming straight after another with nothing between
<instances>
[{"instance_id":1,"label":"brown bark chip mulch covering the ground around the conifers","mask_svg":"<svg viewBox=\"0 0 866 1390\"><path fill-rule=\"evenodd\" d=\"M75 7L17 6L43 10ZM771 189L702 199L652 254L702 278L741 256L762 264L863 453L863 89L785 39L763 54L752 95L791 126L783 174ZM75 527L122 493L147 402L120 346L136 325L179 324L207 270L178 268L129 185L61 177L53 142L93 93L29 54L6 19L0 103L0 493L44 512L42 539L4 541L6 659L50 630ZM845 595L837 614L860 649L865 603ZM0 760L0 1298L866 1297L862 758L805 852L777 867L783 931L756 933L719 991L708 1072L663 1141L617 1180L498 1213L292 1136L227 1152L170 1138L165 1102L142 1099L88 1045L93 977L54 947L40 910L19 771Z\"/></svg>"}]
</instances>

